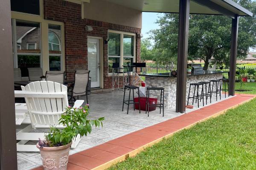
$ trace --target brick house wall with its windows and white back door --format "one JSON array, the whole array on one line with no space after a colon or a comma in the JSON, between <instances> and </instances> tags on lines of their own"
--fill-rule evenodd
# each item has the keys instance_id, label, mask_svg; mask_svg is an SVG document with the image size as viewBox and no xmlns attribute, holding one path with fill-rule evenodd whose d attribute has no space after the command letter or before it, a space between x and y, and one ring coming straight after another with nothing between
<instances>
[{"instance_id":1,"label":"brick house wall with its windows and white back door","mask_svg":"<svg viewBox=\"0 0 256 170\"><path fill-rule=\"evenodd\" d=\"M113 62L140 62L139 10L108 0L11 0L11 9L14 66L23 76L41 67L72 80L86 68L93 87L112 88Z\"/></svg>"}]
</instances>

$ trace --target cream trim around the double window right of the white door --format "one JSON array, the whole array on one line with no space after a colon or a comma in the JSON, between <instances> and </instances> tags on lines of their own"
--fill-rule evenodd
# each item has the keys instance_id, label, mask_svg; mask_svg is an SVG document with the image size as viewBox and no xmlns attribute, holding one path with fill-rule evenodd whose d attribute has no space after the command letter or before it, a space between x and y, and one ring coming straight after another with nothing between
<instances>
[{"instance_id":1,"label":"cream trim around the double window right of the white door","mask_svg":"<svg viewBox=\"0 0 256 170\"><path fill-rule=\"evenodd\" d=\"M108 30L108 33L116 33L121 34L121 40L120 40L120 56L108 56L108 58L119 58L120 65L119 67L122 68L123 65L123 59L124 58L133 58L133 62L136 62L136 34L131 32L124 32L124 31L115 31L115 30ZM123 51L123 40L124 40L124 34L125 35L131 35L134 36L134 56L132 57L124 57L124 51ZM112 76L113 73L108 73L108 76Z\"/></svg>"}]
</instances>

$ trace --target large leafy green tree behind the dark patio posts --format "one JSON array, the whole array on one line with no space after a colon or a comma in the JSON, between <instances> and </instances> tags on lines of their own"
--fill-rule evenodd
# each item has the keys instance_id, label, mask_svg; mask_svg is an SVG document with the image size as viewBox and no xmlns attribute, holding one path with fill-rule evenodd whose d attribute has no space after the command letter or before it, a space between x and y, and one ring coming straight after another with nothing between
<instances>
[{"instance_id":1,"label":"large leafy green tree behind the dark patio posts","mask_svg":"<svg viewBox=\"0 0 256 170\"><path fill-rule=\"evenodd\" d=\"M237 1L241 6L256 13L256 2ZM204 70L209 59L217 64L229 65L231 45L231 22L226 16L191 14L189 17L188 59L203 59ZM164 14L158 17L160 28L152 30L154 48L165 51L166 56L177 60L178 14ZM249 48L256 48L256 16L239 17L238 58L245 58Z\"/></svg>"}]
</instances>

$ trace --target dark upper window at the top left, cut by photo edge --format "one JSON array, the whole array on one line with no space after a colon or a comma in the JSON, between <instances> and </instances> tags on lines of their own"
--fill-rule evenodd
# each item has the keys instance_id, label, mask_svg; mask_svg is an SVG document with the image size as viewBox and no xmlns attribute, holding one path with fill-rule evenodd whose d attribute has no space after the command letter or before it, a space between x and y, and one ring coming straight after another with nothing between
<instances>
[{"instance_id":1,"label":"dark upper window at the top left, cut by photo edge","mask_svg":"<svg viewBox=\"0 0 256 170\"><path fill-rule=\"evenodd\" d=\"M11 0L11 11L40 15L40 0Z\"/></svg>"}]
</instances>

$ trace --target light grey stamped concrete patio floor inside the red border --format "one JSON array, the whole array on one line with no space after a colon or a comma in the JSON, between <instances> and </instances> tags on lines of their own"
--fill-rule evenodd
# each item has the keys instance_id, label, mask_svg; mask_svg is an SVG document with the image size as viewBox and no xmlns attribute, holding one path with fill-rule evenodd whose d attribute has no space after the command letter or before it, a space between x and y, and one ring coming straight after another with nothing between
<instances>
[{"instance_id":1,"label":"light grey stamped concrete patio floor inside the red border","mask_svg":"<svg viewBox=\"0 0 256 170\"><path fill-rule=\"evenodd\" d=\"M103 127L98 129L94 128L90 135L82 137L78 146L75 149L70 150L70 155L87 150L105 142L109 142L113 139L119 138L120 136L125 136L145 127L149 127L183 115L181 113L176 113L175 109L165 109L165 114L163 117L162 114L159 114L159 108L157 108L156 111L150 112L148 117L147 114L145 114L145 111L141 111L141 113L139 113L138 110L134 111L133 105L130 105L129 114L127 114L127 105L125 105L124 111L122 111L122 97L122 91L113 91L103 94L92 93L88 96L90 104L90 118L93 119L105 117ZM229 98L230 97L227 97L226 99ZM85 98L82 99L86 101ZM222 95L221 101L222 100L225 100L224 95ZM217 102L220 102L220 100L218 99ZM212 96L212 104L209 103L210 101L208 100L207 106L216 103L214 96ZM201 103L200 108L202 108ZM187 113L189 113L197 109L197 104L194 104L194 109L186 110ZM29 144L36 144L36 142L37 141L29 141ZM17 163L18 170L30 170L38 167L42 164L40 153L17 152Z\"/></svg>"}]
</instances>

